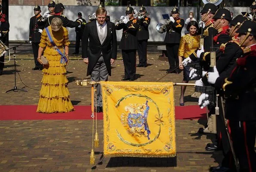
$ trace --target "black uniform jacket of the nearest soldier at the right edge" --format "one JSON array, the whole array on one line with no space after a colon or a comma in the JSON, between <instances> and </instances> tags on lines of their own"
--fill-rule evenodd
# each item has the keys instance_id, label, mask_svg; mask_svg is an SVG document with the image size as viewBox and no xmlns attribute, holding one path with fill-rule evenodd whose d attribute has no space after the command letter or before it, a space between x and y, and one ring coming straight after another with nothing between
<instances>
[{"instance_id":1,"label":"black uniform jacket of the nearest soldier at the right edge","mask_svg":"<svg viewBox=\"0 0 256 172\"><path fill-rule=\"evenodd\" d=\"M256 45L243 50L230 77L219 77L215 86L224 90L226 118L256 120ZM249 52L248 52L249 51Z\"/></svg>"}]
</instances>

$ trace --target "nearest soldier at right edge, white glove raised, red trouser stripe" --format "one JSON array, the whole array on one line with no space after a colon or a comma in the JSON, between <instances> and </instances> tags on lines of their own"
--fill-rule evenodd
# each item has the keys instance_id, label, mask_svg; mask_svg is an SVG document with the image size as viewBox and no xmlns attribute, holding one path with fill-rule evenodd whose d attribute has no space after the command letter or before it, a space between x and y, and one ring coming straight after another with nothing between
<instances>
[{"instance_id":1,"label":"nearest soldier at right edge, white glove raised, red trouser stripe","mask_svg":"<svg viewBox=\"0 0 256 172\"><path fill-rule=\"evenodd\" d=\"M237 33L240 46L244 47L243 55L237 59L230 76L219 75L215 68L214 72L208 73L208 82L224 92L225 117L240 172L255 172L256 22L245 21Z\"/></svg>"}]
</instances>

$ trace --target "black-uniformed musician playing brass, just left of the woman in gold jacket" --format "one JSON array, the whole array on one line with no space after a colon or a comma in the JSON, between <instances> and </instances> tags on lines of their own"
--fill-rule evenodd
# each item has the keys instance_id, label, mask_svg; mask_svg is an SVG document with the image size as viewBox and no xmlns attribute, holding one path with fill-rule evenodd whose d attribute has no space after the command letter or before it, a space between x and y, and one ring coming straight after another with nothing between
<instances>
[{"instance_id":1,"label":"black-uniformed musician playing brass, just left of the woman in gold jacket","mask_svg":"<svg viewBox=\"0 0 256 172\"><path fill-rule=\"evenodd\" d=\"M164 39L164 43L166 44L166 50L168 55L168 61L170 68L167 72L173 71L174 68L179 66L179 42L181 39L181 31L185 24L183 18L179 18L179 9L173 8L170 16L170 24L167 25L167 32ZM176 74L179 74L179 69L177 68L175 71Z\"/></svg>"}]
</instances>

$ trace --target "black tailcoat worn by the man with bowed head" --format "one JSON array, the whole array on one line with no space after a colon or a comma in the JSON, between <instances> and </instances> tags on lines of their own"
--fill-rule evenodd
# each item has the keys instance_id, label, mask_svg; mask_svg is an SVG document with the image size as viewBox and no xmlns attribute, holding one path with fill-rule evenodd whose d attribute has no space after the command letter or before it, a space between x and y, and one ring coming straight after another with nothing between
<instances>
[{"instance_id":1,"label":"black tailcoat worn by the man with bowed head","mask_svg":"<svg viewBox=\"0 0 256 172\"><path fill-rule=\"evenodd\" d=\"M87 68L87 76L92 73L92 70L97 63L100 55L104 58L108 74L111 76L110 59L117 58L117 34L113 22L107 22L107 36L101 44L97 32L96 20L85 25L82 38L82 58L89 58ZM90 41L88 47L88 39Z\"/></svg>"}]
</instances>

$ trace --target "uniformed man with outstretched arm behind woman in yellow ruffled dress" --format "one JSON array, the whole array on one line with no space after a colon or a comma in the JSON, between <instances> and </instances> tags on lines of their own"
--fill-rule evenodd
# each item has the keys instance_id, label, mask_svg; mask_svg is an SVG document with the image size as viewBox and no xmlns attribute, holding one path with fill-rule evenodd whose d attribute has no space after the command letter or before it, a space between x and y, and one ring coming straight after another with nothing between
<instances>
[{"instance_id":1,"label":"uniformed man with outstretched arm behind woman in yellow ruffled dress","mask_svg":"<svg viewBox=\"0 0 256 172\"><path fill-rule=\"evenodd\" d=\"M75 28L79 25L86 25L86 23L83 22L82 19L78 19L77 21L71 21L68 20L67 17L65 17L63 14L63 5L60 3L57 3L55 5L55 9L54 9L55 14L49 16L49 18L47 19L47 22L45 24L45 28L48 27L49 25L51 25L52 22L52 18L58 17L62 20L63 22L63 27L69 27L69 28Z\"/></svg>"}]
</instances>

